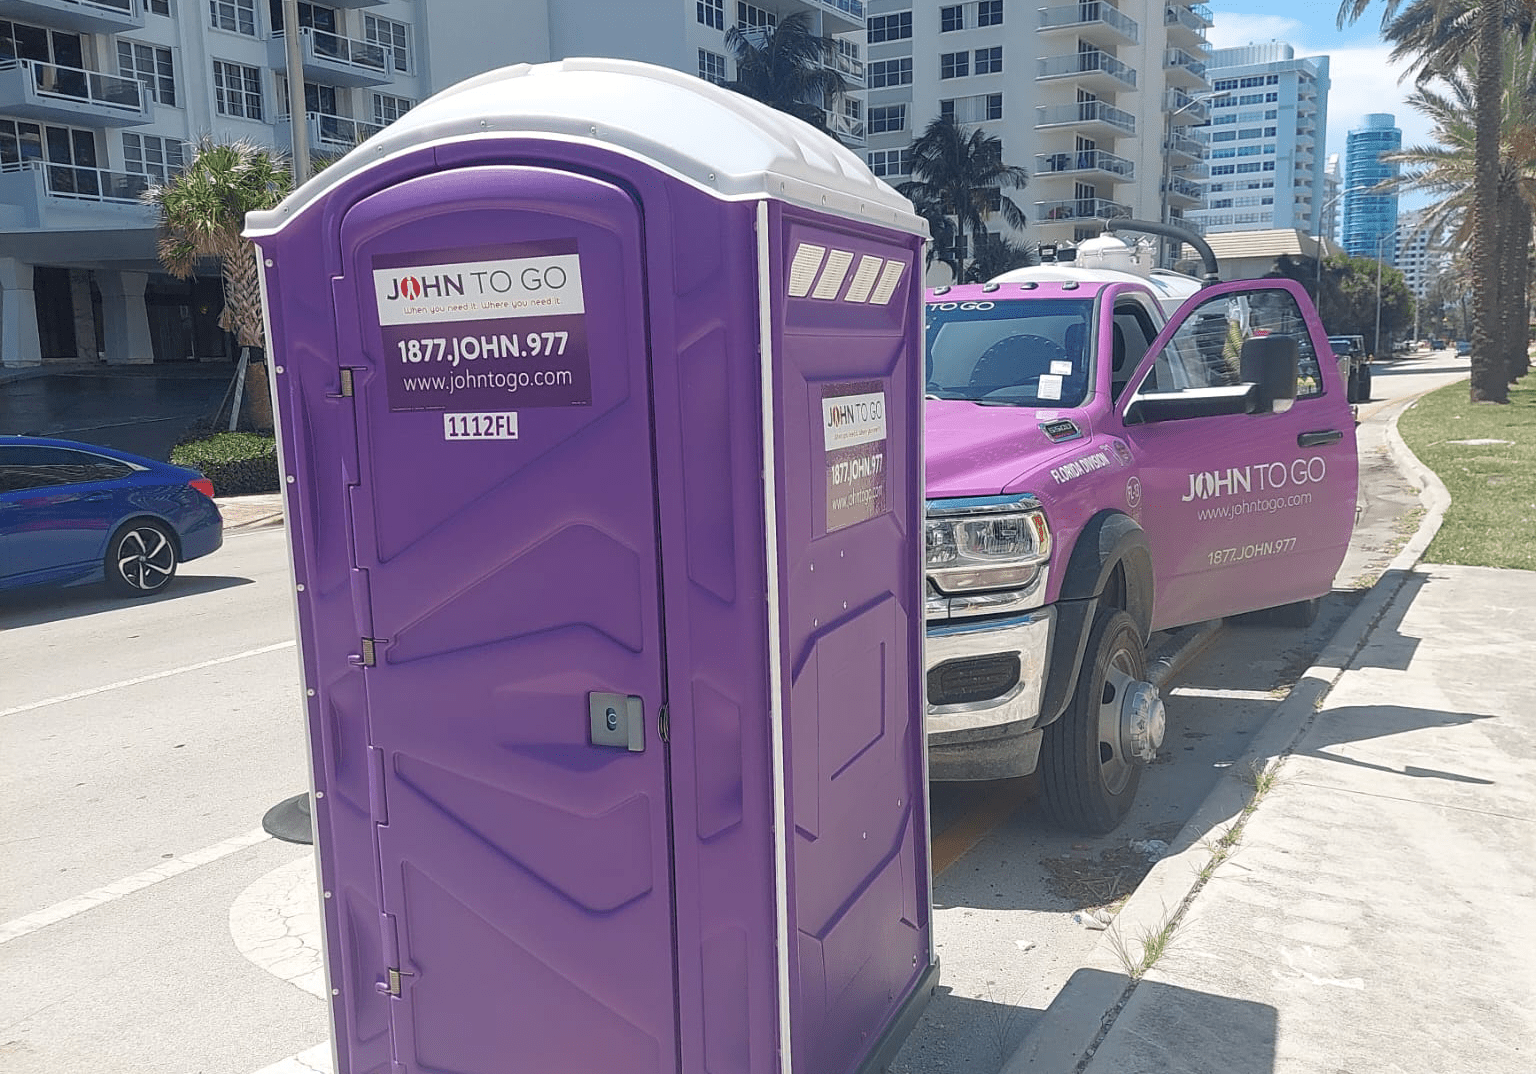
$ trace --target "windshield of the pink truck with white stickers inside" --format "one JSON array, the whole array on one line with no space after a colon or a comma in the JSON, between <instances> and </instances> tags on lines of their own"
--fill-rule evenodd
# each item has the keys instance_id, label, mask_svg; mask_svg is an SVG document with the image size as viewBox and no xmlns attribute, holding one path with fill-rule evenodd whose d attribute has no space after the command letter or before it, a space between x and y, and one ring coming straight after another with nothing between
<instances>
[{"instance_id":1,"label":"windshield of the pink truck with white stickers inside","mask_svg":"<svg viewBox=\"0 0 1536 1074\"><path fill-rule=\"evenodd\" d=\"M1091 298L928 303L929 398L1075 407L1094 367Z\"/></svg>"}]
</instances>

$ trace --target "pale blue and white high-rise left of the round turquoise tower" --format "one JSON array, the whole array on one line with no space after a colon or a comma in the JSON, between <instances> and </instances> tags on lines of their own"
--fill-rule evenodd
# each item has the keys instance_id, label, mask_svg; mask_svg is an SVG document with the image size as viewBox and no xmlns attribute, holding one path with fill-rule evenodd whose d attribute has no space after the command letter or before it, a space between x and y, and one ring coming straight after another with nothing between
<instances>
[{"instance_id":1,"label":"pale blue and white high-rise left of the round turquoise tower","mask_svg":"<svg viewBox=\"0 0 1536 1074\"><path fill-rule=\"evenodd\" d=\"M1316 235L1327 200L1329 57L1298 60L1284 41L1215 49L1206 234L1293 229Z\"/></svg>"}]
</instances>

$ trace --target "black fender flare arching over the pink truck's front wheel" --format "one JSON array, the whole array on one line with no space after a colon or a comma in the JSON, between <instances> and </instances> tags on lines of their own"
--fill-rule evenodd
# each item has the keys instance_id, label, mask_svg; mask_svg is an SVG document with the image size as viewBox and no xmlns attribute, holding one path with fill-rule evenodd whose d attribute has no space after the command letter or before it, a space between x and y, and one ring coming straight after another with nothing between
<instances>
[{"instance_id":1,"label":"black fender flare arching over the pink truck's front wheel","mask_svg":"<svg viewBox=\"0 0 1536 1074\"><path fill-rule=\"evenodd\" d=\"M1107 604L1129 612L1144 641L1152 630L1152 550L1146 532L1129 515L1100 512L1078 533L1061 579L1055 638L1040 699L1041 727L1055 721L1072 701L1098 608Z\"/></svg>"}]
</instances>

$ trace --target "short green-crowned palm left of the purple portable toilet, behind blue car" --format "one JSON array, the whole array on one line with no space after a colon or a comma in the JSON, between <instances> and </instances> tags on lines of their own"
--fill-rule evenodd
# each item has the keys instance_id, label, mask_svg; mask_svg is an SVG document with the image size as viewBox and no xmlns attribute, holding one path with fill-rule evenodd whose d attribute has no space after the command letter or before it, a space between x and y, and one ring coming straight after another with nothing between
<instances>
[{"instance_id":1,"label":"short green-crowned palm left of the purple portable toilet, behind blue car","mask_svg":"<svg viewBox=\"0 0 1536 1074\"><path fill-rule=\"evenodd\" d=\"M257 252L240 232L247 212L275 207L292 186L287 161L272 149L203 135L192 143L186 169L143 195L160 210L155 252L166 272L187 280L204 258L218 261L224 280L224 312L218 326L240 343L241 386L250 347L264 349L266 332ZM238 403L235 409L238 412ZM230 429L233 423L232 415Z\"/></svg>"}]
</instances>

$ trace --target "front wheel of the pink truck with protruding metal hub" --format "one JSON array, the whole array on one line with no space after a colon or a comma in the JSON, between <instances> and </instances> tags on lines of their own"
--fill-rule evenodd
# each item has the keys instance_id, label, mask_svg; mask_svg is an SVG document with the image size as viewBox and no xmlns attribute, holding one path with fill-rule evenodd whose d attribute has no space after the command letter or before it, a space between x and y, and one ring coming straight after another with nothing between
<instances>
[{"instance_id":1,"label":"front wheel of the pink truck with protruding metal hub","mask_svg":"<svg viewBox=\"0 0 1536 1074\"><path fill-rule=\"evenodd\" d=\"M1163 744L1163 702L1144 678L1137 621L1101 608L1072 701L1040 744L1041 804L1061 827L1104 834L1130 810L1141 768Z\"/></svg>"}]
</instances>

